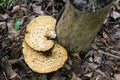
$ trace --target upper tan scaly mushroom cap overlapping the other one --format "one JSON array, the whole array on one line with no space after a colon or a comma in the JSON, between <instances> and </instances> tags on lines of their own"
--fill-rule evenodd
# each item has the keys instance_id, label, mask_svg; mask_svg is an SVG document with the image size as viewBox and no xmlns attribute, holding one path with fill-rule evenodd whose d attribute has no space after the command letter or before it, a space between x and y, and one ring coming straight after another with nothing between
<instances>
[{"instance_id":1,"label":"upper tan scaly mushroom cap overlapping the other one","mask_svg":"<svg viewBox=\"0 0 120 80\"><path fill-rule=\"evenodd\" d=\"M33 19L26 28L25 40L37 51L47 51L53 47L56 20L51 16L39 16Z\"/></svg>"}]
</instances>

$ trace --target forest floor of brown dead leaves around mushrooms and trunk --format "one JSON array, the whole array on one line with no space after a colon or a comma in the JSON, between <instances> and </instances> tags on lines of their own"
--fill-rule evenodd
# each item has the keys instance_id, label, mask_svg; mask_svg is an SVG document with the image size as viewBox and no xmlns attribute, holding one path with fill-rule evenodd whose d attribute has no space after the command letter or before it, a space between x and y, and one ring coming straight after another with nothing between
<instances>
[{"instance_id":1,"label":"forest floor of brown dead leaves around mushrooms and trunk","mask_svg":"<svg viewBox=\"0 0 120 80\"><path fill-rule=\"evenodd\" d=\"M85 55L69 55L63 68L48 74L27 66L21 46L26 25L43 14L58 20L64 5L65 0L13 0L0 6L0 80L120 80L120 1Z\"/></svg>"}]
</instances>

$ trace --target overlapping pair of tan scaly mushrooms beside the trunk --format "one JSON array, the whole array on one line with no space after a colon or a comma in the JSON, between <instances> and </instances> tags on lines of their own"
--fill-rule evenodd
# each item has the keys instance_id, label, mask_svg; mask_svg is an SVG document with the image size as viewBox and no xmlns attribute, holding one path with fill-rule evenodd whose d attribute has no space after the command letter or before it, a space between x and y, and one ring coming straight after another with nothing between
<instances>
[{"instance_id":1,"label":"overlapping pair of tan scaly mushrooms beside the trunk","mask_svg":"<svg viewBox=\"0 0 120 80\"><path fill-rule=\"evenodd\" d=\"M55 43L56 20L51 16L39 16L26 27L23 41L23 56L27 65L35 72L50 73L63 67L67 51ZM50 52L50 53L49 53ZM50 55L45 55L50 54Z\"/></svg>"}]
</instances>

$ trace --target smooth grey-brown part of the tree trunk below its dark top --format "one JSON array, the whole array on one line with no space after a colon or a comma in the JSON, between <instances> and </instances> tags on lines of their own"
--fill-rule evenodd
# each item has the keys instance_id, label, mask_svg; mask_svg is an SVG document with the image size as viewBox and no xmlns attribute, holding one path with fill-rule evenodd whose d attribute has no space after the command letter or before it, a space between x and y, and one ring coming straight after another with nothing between
<instances>
[{"instance_id":1,"label":"smooth grey-brown part of the tree trunk below its dark top","mask_svg":"<svg viewBox=\"0 0 120 80\"><path fill-rule=\"evenodd\" d=\"M95 12L83 12L66 0L57 23L58 42L70 52L86 52L102 26L111 4Z\"/></svg>"}]
</instances>

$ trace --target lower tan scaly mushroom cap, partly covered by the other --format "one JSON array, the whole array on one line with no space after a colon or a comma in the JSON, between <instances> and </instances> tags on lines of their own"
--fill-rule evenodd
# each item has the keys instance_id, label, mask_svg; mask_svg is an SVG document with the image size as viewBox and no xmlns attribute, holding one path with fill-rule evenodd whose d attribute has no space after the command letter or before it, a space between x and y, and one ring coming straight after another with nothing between
<instances>
[{"instance_id":1,"label":"lower tan scaly mushroom cap, partly covered by the other","mask_svg":"<svg viewBox=\"0 0 120 80\"><path fill-rule=\"evenodd\" d=\"M67 60L67 51L59 44L54 45L50 56L45 56L42 52L33 50L24 41L23 55L28 66L33 71L38 73L49 73L56 71L63 67L65 61Z\"/></svg>"}]
</instances>

